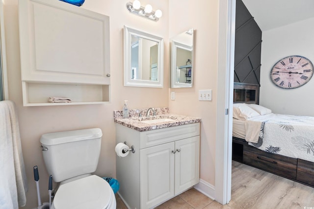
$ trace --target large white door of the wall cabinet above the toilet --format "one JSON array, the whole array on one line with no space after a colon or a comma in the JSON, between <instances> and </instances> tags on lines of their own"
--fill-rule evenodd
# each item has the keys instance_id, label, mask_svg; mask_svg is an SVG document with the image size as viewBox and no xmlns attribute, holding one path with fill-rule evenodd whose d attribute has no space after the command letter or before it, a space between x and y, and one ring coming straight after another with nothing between
<instances>
[{"instance_id":1,"label":"large white door of the wall cabinet above the toilet","mask_svg":"<svg viewBox=\"0 0 314 209\"><path fill-rule=\"evenodd\" d=\"M23 81L110 84L109 17L59 0L19 0Z\"/></svg>"}]
</instances>

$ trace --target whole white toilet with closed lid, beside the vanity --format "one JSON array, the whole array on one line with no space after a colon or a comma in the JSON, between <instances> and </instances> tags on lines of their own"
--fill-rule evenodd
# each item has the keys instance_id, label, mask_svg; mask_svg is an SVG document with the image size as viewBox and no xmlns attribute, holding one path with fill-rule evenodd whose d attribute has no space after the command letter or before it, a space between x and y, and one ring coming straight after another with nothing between
<instances>
[{"instance_id":1,"label":"whole white toilet with closed lid, beside the vanity","mask_svg":"<svg viewBox=\"0 0 314 209\"><path fill-rule=\"evenodd\" d=\"M60 183L52 209L115 209L110 185L95 172L103 133L99 128L44 134L40 138L44 162Z\"/></svg>"}]
</instances>

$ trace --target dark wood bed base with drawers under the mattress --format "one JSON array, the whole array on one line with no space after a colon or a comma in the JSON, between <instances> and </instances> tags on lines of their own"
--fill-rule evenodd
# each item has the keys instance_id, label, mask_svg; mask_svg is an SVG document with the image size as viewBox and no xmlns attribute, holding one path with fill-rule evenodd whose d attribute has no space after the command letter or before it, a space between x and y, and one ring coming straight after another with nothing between
<instances>
[{"instance_id":1,"label":"dark wood bed base with drawers under the mattress","mask_svg":"<svg viewBox=\"0 0 314 209\"><path fill-rule=\"evenodd\" d=\"M314 163L264 152L233 137L232 160L314 187Z\"/></svg>"}]
</instances>

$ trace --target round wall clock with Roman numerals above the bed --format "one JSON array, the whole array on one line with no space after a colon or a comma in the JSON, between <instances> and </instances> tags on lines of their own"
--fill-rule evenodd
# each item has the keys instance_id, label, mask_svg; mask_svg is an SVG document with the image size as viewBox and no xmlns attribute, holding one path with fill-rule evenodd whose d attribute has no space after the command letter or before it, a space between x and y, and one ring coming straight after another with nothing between
<instances>
[{"instance_id":1,"label":"round wall clock with Roman numerals above the bed","mask_svg":"<svg viewBox=\"0 0 314 209\"><path fill-rule=\"evenodd\" d=\"M271 81L283 89L303 86L313 76L312 62L302 56L293 55L279 60L270 71Z\"/></svg>"}]
</instances>

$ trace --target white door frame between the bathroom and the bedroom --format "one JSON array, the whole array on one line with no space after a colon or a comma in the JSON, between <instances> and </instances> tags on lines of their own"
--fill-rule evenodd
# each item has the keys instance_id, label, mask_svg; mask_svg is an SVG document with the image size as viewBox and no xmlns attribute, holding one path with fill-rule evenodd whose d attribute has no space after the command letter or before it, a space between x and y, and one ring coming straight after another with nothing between
<instances>
[{"instance_id":1,"label":"white door frame between the bathroom and the bedroom","mask_svg":"<svg viewBox=\"0 0 314 209\"><path fill-rule=\"evenodd\" d=\"M215 200L231 200L235 0L219 0Z\"/></svg>"}]
</instances>

